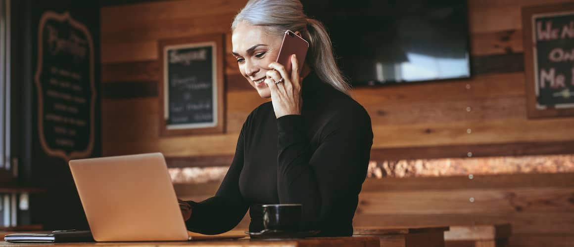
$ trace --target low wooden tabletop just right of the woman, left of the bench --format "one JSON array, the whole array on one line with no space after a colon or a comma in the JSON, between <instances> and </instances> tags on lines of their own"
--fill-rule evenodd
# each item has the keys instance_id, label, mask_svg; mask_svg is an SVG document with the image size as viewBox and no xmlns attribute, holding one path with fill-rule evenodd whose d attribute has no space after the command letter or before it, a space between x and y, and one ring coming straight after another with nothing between
<instances>
[{"instance_id":1,"label":"low wooden tabletop just right of the woman, left of the bench","mask_svg":"<svg viewBox=\"0 0 574 247\"><path fill-rule=\"evenodd\" d=\"M367 227L355 228L353 236L377 236L381 247L444 247L444 232L448 226L424 228Z\"/></svg>"}]
</instances>

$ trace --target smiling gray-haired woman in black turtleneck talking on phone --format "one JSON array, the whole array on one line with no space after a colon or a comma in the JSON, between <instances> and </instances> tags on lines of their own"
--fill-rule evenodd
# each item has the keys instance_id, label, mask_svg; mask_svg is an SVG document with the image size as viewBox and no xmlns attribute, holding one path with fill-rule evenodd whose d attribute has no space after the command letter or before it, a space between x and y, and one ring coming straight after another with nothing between
<instances>
[{"instance_id":1,"label":"smiling gray-haired woman in black turtleneck talking on phone","mask_svg":"<svg viewBox=\"0 0 574 247\"><path fill-rule=\"evenodd\" d=\"M188 229L227 232L250 209L249 230L259 232L262 204L301 203L304 229L351 236L373 132L367 112L348 96L325 28L298 0L251 0L231 29L239 70L271 102L247 117L215 196L182 201ZM309 42L306 61L292 56L292 73L274 62L285 30Z\"/></svg>"}]
</instances>

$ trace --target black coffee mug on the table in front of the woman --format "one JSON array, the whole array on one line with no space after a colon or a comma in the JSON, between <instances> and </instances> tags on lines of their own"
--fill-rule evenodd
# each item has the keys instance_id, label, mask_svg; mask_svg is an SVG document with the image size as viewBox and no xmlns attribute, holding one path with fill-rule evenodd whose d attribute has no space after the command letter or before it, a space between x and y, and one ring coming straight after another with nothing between
<instances>
[{"instance_id":1,"label":"black coffee mug on the table in front of the woman","mask_svg":"<svg viewBox=\"0 0 574 247\"><path fill-rule=\"evenodd\" d=\"M263 205L263 227L266 230L297 232L301 228L301 204Z\"/></svg>"}]
</instances>

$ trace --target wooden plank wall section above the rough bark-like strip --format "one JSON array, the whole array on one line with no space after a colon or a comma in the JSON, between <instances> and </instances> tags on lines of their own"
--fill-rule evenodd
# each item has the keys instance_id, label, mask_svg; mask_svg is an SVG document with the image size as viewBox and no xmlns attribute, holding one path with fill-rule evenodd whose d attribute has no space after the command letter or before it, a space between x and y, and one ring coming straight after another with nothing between
<instances>
[{"instance_id":1,"label":"wooden plank wall section above the rough bark-like strip","mask_svg":"<svg viewBox=\"0 0 574 247\"><path fill-rule=\"evenodd\" d=\"M472 79L356 89L355 99L373 120L373 159L574 152L574 118L526 117L523 75L521 7L564 1L469 0ZM104 155L161 151L227 164L243 120L265 101L230 55L230 22L244 3L149 1L102 8ZM226 34L227 132L160 137L157 41L207 33Z\"/></svg>"}]
</instances>

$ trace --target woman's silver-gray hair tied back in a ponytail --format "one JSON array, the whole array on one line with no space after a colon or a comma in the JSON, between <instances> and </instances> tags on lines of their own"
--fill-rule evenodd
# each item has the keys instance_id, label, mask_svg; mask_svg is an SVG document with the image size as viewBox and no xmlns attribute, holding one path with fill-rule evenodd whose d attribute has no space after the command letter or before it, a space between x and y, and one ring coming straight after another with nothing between
<instances>
[{"instance_id":1,"label":"woman's silver-gray hair tied back in a ponytail","mask_svg":"<svg viewBox=\"0 0 574 247\"><path fill-rule=\"evenodd\" d=\"M321 80L349 95L350 87L335 61L327 29L323 23L303 13L303 5L299 0L250 0L235 15L231 30L235 30L243 21L250 25L264 26L267 32L277 36L282 36L286 30L300 32L309 42L305 58L307 64L315 69Z\"/></svg>"}]
</instances>

